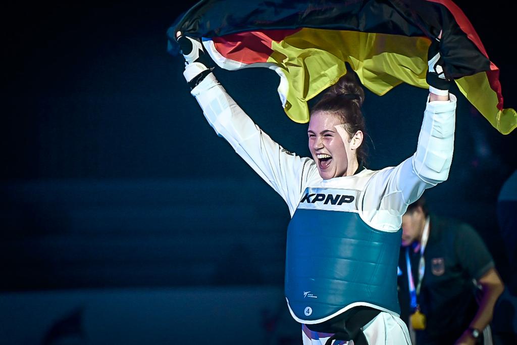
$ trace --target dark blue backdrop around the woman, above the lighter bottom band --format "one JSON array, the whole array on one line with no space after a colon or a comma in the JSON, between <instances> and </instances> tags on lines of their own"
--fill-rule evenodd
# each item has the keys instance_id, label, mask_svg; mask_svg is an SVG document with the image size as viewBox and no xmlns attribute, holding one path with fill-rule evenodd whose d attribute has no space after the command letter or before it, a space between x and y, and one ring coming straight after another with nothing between
<instances>
[{"instance_id":1,"label":"dark blue backdrop around the woman, above the lighter bottom band","mask_svg":"<svg viewBox=\"0 0 517 345\"><path fill-rule=\"evenodd\" d=\"M458 2L517 107L512 5ZM287 207L218 138L166 53L188 2L21 4L3 13L0 259L5 292L70 288L276 286ZM307 125L283 113L270 70L217 71L285 148L309 155ZM472 224L510 274L495 217L516 169L499 134L457 89L449 180L432 211ZM367 92L370 169L413 154L427 91Z\"/></svg>"}]
</instances>

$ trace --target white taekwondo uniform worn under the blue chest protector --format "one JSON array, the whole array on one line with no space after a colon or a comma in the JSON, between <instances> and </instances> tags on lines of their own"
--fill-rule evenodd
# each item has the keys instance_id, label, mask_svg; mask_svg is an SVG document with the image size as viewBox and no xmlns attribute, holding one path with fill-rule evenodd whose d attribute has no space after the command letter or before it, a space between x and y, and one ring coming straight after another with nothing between
<instances>
[{"instance_id":1,"label":"white taekwondo uniform worn under the blue chest protector","mask_svg":"<svg viewBox=\"0 0 517 345\"><path fill-rule=\"evenodd\" d=\"M186 73L194 65L186 66ZM195 72L190 71L190 74ZM264 133L251 118L235 103L210 73L192 89L204 115L216 133L226 139L267 184L277 191L287 203L291 217L299 207L300 200L312 193L312 201L318 191L353 191L355 201L347 205L345 212L360 217L367 227L381 232L397 232L407 205L416 201L424 189L447 179L452 161L456 98L450 94L449 101L427 102L423 123L414 155L396 167L378 171L362 170L353 176L322 179L316 163L308 157L299 157L285 150ZM314 192L313 192L314 191ZM322 197L323 198L323 197ZM330 211L336 203L328 200L311 202L305 200L305 208ZM287 270L287 268L286 268ZM393 272L396 275L396 272ZM396 289L396 287L394 287ZM303 296L306 297L306 296ZM287 301L289 305L289 301ZM302 323L323 322L354 306L365 305L382 310L363 327L370 345L410 344L407 327L396 311L362 302L342 306L332 315L317 320L307 320L296 314L292 316ZM307 310L307 309L306 309ZM307 315L307 314L306 314ZM330 334L312 332L302 326L303 344L324 344ZM346 343L335 341L334 344ZM353 341L349 342L350 344Z\"/></svg>"}]
</instances>

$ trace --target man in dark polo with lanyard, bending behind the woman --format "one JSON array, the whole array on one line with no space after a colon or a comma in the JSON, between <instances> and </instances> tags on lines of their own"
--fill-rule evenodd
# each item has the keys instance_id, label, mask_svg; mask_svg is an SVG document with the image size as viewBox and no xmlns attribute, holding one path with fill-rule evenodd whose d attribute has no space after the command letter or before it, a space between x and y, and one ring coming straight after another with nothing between
<instances>
[{"instance_id":1,"label":"man in dark polo with lanyard, bending behind the woman","mask_svg":"<svg viewBox=\"0 0 517 345\"><path fill-rule=\"evenodd\" d=\"M486 327L504 285L476 231L429 215L422 197L408 206L402 232L399 302L412 340L491 344Z\"/></svg>"}]
</instances>

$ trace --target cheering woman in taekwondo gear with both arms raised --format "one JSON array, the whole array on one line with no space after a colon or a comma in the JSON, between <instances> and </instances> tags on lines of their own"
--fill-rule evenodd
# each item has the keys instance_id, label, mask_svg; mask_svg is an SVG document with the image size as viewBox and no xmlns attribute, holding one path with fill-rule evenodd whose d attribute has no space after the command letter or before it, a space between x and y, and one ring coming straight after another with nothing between
<instances>
[{"instance_id":1,"label":"cheering woman in taekwondo gear with both arms raised","mask_svg":"<svg viewBox=\"0 0 517 345\"><path fill-rule=\"evenodd\" d=\"M199 41L177 37L206 119L289 207L285 296L303 344L410 344L397 299L400 228L407 205L449 173L456 99L447 84L430 88L415 154L372 171L362 165L364 93L352 73L311 110L312 159L299 157L237 106L206 67Z\"/></svg>"}]
</instances>

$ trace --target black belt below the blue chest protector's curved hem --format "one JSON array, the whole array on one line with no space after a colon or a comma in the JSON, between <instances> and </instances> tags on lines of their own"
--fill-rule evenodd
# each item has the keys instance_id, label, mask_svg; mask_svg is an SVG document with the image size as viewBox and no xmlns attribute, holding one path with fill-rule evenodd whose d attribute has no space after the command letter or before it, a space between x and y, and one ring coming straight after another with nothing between
<instances>
[{"instance_id":1,"label":"black belt below the blue chest protector's curved hem","mask_svg":"<svg viewBox=\"0 0 517 345\"><path fill-rule=\"evenodd\" d=\"M332 340L354 340L354 345L368 345L362 327L372 321L381 310L370 307L354 307L322 323L306 325L313 332L333 333L325 345Z\"/></svg>"}]
</instances>

